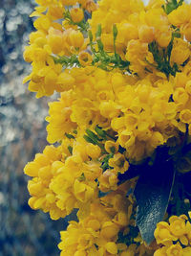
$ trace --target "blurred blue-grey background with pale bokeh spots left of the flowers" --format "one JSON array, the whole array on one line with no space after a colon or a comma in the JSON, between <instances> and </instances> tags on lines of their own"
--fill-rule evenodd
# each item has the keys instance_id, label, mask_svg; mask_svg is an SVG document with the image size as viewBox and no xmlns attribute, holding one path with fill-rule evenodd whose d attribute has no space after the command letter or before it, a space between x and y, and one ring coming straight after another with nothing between
<instances>
[{"instance_id":1,"label":"blurred blue-grey background with pale bokeh spots left of the flowers","mask_svg":"<svg viewBox=\"0 0 191 256\"><path fill-rule=\"evenodd\" d=\"M47 99L22 84L32 0L0 0L0 256L56 256L65 222L28 206L23 168L46 145ZM49 99L50 100L50 99Z\"/></svg>"}]
</instances>

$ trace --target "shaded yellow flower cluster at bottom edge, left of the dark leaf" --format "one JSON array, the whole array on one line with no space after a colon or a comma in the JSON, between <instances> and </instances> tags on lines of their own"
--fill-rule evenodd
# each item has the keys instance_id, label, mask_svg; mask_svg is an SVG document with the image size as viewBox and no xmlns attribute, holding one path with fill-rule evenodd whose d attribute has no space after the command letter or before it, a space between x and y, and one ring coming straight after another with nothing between
<instances>
[{"instance_id":1,"label":"shaded yellow flower cluster at bottom edge, left of the dark leaf","mask_svg":"<svg viewBox=\"0 0 191 256\"><path fill-rule=\"evenodd\" d=\"M134 225L130 219L133 210L131 198L125 197L130 183L118 187L116 192L95 201L90 215L79 222L70 221L66 231L61 231L61 256L113 256L152 255L144 244L127 245L119 243L118 233L129 234L127 225Z\"/></svg>"}]
</instances>

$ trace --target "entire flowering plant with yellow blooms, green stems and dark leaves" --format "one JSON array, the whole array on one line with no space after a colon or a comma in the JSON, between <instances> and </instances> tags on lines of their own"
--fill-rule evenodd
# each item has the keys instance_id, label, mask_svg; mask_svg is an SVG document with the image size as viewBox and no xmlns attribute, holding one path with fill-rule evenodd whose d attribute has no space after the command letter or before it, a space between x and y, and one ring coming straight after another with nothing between
<instances>
[{"instance_id":1,"label":"entire flowering plant with yellow blooms, green stems and dark leaves","mask_svg":"<svg viewBox=\"0 0 191 256\"><path fill-rule=\"evenodd\" d=\"M30 206L74 220L62 256L191 255L191 5L35 1L24 82L59 98Z\"/></svg>"}]
</instances>

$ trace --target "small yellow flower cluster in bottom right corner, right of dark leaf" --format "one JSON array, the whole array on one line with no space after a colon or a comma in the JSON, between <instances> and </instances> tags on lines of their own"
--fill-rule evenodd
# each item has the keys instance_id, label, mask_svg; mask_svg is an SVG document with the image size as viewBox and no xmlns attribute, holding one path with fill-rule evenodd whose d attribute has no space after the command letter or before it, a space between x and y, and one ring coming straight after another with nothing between
<instances>
[{"instance_id":1,"label":"small yellow flower cluster in bottom right corner, right of dark leaf","mask_svg":"<svg viewBox=\"0 0 191 256\"><path fill-rule=\"evenodd\" d=\"M171 216L169 223L159 222L155 230L155 238L158 244L163 245L154 253L155 256L189 256L191 254L190 219L188 220L185 215L180 215L180 217Z\"/></svg>"}]
</instances>

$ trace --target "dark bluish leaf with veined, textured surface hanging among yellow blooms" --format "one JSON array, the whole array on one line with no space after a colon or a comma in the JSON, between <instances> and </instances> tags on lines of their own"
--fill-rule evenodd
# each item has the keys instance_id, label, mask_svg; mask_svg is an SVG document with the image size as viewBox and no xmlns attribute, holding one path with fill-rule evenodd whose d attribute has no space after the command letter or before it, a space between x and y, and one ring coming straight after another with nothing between
<instances>
[{"instance_id":1,"label":"dark bluish leaf with veined, textured surface hanging among yellow blooms","mask_svg":"<svg viewBox=\"0 0 191 256\"><path fill-rule=\"evenodd\" d=\"M135 189L137 225L142 239L151 244L157 223L163 220L174 183L173 162L158 159L142 170Z\"/></svg>"}]
</instances>

